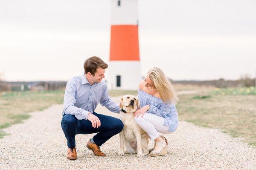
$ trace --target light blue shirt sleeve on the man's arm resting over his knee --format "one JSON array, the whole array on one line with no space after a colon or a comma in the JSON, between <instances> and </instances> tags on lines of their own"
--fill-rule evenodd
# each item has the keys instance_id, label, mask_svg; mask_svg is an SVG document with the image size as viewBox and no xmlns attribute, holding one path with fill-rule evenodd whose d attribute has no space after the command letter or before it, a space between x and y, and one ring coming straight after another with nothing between
<instances>
[{"instance_id":1,"label":"light blue shirt sleeve on the man's arm resting over his knee","mask_svg":"<svg viewBox=\"0 0 256 170\"><path fill-rule=\"evenodd\" d=\"M76 103L76 86L67 83L65 95L64 95L64 113L75 115L77 119L87 119L90 112L74 106Z\"/></svg>"}]
</instances>

